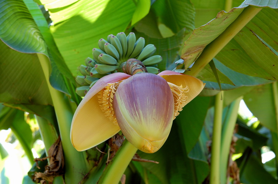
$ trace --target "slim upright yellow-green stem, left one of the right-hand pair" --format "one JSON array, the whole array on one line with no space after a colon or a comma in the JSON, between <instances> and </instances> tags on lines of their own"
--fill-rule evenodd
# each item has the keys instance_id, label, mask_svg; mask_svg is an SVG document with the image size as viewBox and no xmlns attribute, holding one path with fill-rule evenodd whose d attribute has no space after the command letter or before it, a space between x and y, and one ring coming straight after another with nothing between
<instances>
[{"instance_id":1,"label":"slim upright yellow-green stem, left one of the right-hand pair","mask_svg":"<svg viewBox=\"0 0 278 184\"><path fill-rule=\"evenodd\" d=\"M224 97L224 93L222 94ZM220 184L220 148L221 148L221 126L222 126L223 100L221 93L215 97L214 123L212 132L211 148L211 176L210 184Z\"/></svg>"}]
</instances>

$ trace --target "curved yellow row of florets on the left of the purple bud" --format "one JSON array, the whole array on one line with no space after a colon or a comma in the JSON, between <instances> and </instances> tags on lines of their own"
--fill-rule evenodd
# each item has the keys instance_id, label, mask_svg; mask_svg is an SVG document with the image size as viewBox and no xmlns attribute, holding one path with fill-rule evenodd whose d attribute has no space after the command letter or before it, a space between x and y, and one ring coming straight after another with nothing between
<instances>
[{"instance_id":1,"label":"curved yellow row of florets on the left of the purple bud","mask_svg":"<svg viewBox=\"0 0 278 184\"><path fill-rule=\"evenodd\" d=\"M113 110L113 98L120 83L121 81L107 84L103 90L98 92L100 95L97 96L100 103L100 109L104 112L104 115L108 117L109 120L113 121L115 125L118 125L118 122Z\"/></svg>"}]
</instances>

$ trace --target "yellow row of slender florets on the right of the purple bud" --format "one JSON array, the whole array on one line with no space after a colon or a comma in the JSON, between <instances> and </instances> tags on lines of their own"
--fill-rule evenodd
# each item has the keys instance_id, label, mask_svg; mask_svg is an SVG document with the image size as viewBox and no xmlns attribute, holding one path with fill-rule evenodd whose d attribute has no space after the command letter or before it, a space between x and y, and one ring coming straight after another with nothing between
<instances>
[{"instance_id":1,"label":"yellow row of slender florets on the right of the purple bud","mask_svg":"<svg viewBox=\"0 0 278 184\"><path fill-rule=\"evenodd\" d=\"M187 102L187 98L188 96L186 96L186 93L189 91L188 86L186 86L185 88L182 88L181 86L177 86L173 83L168 82L171 91L173 93L173 97L174 97L174 105L175 105L175 110L174 110L174 119L176 118L176 116L179 115L179 111L182 110L182 108L185 106L186 102Z\"/></svg>"}]
</instances>

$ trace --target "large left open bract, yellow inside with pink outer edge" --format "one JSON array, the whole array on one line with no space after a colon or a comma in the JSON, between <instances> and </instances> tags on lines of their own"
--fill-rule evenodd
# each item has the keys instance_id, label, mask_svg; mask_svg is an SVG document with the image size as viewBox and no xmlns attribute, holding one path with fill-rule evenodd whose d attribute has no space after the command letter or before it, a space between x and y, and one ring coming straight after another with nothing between
<instances>
[{"instance_id":1,"label":"large left open bract, yellow inside with pink outer edge","mask_svg":"<svg viewBox=\"0 0 278 184\"><path fill-rule=\"evenodd\" d=\"M125 73L113 73L99 79L78 105L71 126L71 141L77 151L92 148L120 131L119 126L104 116L100 109L98 92L108 83L129 78Z\"/></svg>"}]
</instances>

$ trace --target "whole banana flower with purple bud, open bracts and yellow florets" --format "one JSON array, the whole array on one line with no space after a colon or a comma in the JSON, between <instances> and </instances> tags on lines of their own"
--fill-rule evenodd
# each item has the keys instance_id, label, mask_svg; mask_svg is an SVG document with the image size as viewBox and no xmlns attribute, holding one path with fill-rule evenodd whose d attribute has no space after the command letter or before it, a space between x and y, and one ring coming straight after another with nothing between
<instances>
[{"instance_id":1,"label":"whole banana flower with purple bud, open bracts and yellow florets","mask_svg":"<svg viewBox=\"0 0 278 184\"><path fill-rule=\"evenodd\" d=\"M104 76L76 109L71 126L72 145L84 151L121 130L139 150L156 152L166 141L179 111L204 85L195 77L174 71Z\"/></svg>"}]
</instances>

